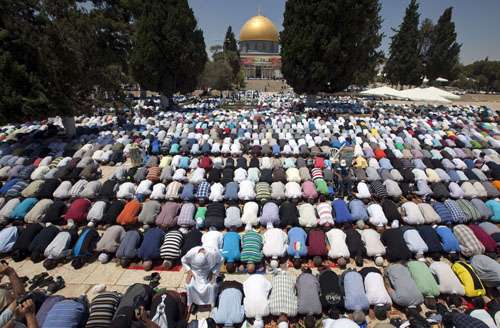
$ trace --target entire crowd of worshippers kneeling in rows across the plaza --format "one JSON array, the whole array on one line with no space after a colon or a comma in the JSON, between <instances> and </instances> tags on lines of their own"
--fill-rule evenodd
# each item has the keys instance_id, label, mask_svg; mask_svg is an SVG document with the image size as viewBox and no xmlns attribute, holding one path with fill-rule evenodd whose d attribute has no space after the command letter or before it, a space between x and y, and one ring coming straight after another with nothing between
<instances>
[{"instance_id":1,"label":"entire crowd of worshippers kneeling in rows across the plaza","mask_svg":"<svg viewBox=\"0 0 500 328\"><path fill-rule=\"evenodd\" d=\"M100 113L77 117L70 139L52 120L0 128L2 255L188 273L186 295L138 283L90 305L54 295L62 279L16 303L14 277L1 322L355 328L373 313L392 319L379 327L500 325L498 116L328 104ZM199 306L210 318L189 322Z\"/></svg>"}]
</instances>

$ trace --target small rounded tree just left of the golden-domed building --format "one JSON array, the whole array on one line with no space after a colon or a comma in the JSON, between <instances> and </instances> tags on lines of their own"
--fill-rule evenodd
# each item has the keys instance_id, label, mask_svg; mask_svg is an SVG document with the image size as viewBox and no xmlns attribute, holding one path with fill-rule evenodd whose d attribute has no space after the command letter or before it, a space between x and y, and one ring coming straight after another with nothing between
<instances>
[{"instance_id":1,"label":"small rounded tree just left of the golden-domed building","mask_svg":"<svg viewBox=\"0 0 500 328\"><path fill-rule=\"evenodd\" d=\"M199 85L203 89L230 90L232 89L233 70L225 60L207 62L200 76Z\"/></svg>"}]
</instances>

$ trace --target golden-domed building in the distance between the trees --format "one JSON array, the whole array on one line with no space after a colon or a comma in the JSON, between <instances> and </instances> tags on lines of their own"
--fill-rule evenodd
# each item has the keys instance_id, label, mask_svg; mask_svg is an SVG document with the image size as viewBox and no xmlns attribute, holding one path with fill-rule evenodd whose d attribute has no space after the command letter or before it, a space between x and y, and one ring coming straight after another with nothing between
<instances>
[{"instance_id":1,"label":"golden-domed building in the distance between the trees","mask_svg":"<svg viewBox=\"0 0 500 328\"><path fill-rule=\"evenodd\" d=\"M281 79L279 33L265 16L250 18L240 30L241 67L247 79Z\"/></svg>"}]
</instances>

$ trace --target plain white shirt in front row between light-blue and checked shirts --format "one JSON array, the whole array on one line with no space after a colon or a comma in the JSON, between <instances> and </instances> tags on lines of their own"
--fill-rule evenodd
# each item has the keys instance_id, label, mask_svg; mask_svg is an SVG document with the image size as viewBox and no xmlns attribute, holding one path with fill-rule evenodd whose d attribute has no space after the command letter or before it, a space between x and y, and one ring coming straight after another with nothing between
<instances>
[{"instance_id":1,"label":"plain white shirt in front row between light-blue and checked shirts","mask_svg":"<svg viewBox=\"0 0 500 328\"><path fill-rule=\"evenodd\" d=\"M252 274L243 283L243 307L248 318L262 319L269 315L269 292L272 285L264 275Z\"/></svg>"}]
</instances>

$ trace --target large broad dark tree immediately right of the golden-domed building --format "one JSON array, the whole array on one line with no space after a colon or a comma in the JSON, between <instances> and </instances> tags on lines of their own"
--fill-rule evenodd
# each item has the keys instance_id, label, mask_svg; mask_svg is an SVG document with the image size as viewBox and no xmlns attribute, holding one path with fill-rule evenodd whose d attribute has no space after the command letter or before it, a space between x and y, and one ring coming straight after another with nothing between
<instances>
[{"instance_id":1,"label":"large broad dark tree immediately right of the golden-domed building","mask_svg":"<svg viewBox=\"0 0 500 328\"><path fill-rule=\"evenodd\" d=\"M378 0L288 0L282 72L296 92L339 91L375 76L382 56Z\"/></svg>"}]
</instances>

